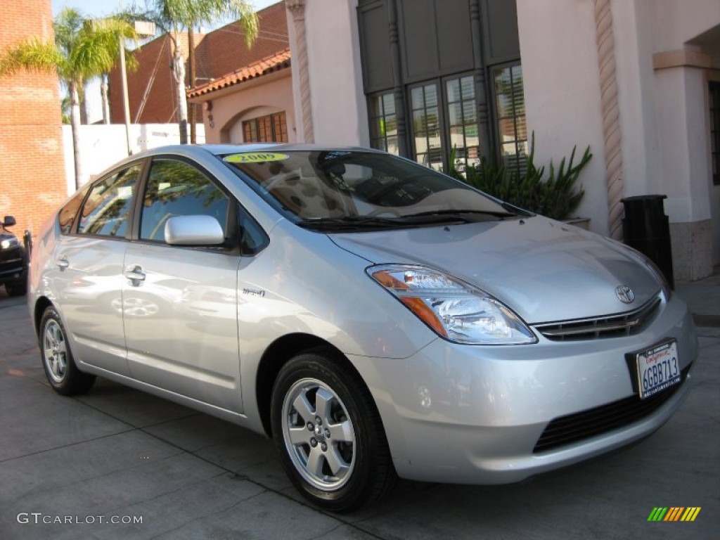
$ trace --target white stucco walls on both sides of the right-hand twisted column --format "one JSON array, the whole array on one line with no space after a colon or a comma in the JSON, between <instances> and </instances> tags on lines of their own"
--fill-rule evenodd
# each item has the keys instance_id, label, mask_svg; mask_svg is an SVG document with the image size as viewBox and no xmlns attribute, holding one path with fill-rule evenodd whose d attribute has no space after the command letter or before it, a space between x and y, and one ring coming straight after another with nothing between
<instances>
[{"instance_id":1,"label":"white stucco walls on both sides of the right-hand twisted column","mask_svg":"<svg viewBox=\"0 0 720 540\"><path fill-rule=\"evenodd\" d=\"M606 233L594 2L517 4L528 126L536 133L539 161L564 155L569 145L590 144L594 157L581 177L587 194L578 213L591 217L593 230ZM611 0L610 5L624 197L667 195L674 246L693 246L674 256L690 261L688 275L696 279L711 271L707 231L711 218L720 219L711 210L706 72L696 60L677 66L654 60L676 51L711 56L693 40L702 36L702 45L710 42L712 48L716 37L705 32L720 24L720 1Z\"/></svg>"}]
</instances>

